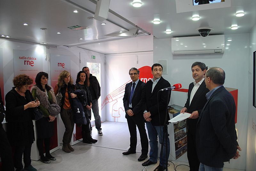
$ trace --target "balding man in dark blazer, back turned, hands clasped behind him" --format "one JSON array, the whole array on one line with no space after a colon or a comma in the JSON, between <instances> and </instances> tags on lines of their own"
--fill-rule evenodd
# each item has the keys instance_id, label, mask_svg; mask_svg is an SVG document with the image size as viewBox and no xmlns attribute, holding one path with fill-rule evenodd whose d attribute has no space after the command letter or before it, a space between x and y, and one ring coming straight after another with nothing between
<instances>
[{"instance_id":1,"label":"balding man in dark blazer, back turned, hands clasped behind him","mask_svg":"<svg viewBox=\"0 0 256 171\"><path fill-rule=\"evenodd\" d=\"M235 129L236 105L223 86L224 81L225 72L221 68L206 71L205 84L210 92L206 94L207 102L196 125L199 171L221 171L225 161L240 156Z\"/></svg>"}]
</instances>

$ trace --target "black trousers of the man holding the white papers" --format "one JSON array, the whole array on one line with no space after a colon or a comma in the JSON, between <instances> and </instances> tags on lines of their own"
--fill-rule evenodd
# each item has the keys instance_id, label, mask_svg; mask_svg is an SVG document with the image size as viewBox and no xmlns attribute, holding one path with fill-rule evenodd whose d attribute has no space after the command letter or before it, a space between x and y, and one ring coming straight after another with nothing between
<instances>
[{"instance_id":1,"label":"black trousers of the man holding the white papers","mask_svg":"<svg viewBox=\"0 0 256 171\"><path fill-rule=\"evenodd\" d=\"M200 161L198 160L197 152L196 152L196 135L193 135L191 132L188 131L187 137L188 137L187 156L188 156L190 171L198 171Z\"/></svg>"}]
</instances>

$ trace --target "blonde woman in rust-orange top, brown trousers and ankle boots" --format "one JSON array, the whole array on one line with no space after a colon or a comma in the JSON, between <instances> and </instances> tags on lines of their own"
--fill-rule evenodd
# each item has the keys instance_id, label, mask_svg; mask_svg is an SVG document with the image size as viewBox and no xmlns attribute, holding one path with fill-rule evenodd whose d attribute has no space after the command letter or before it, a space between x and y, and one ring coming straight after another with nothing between
<instances>
[{"instance_id":1,"label":"blonde woman in rust-orange top, brown trousers and ankle boots","mask_svg":"<svg viewBox=\"0 0 256 171\"><path fill-rule=\"evenodd\" d=\"M65 132L62 139L62 150L64 152L74 151L74 149L70 145L75 125L73 114L71 112L71 98L77 97L77 95L73 93L74 91L75 85L73 84L73 79L71 78L70 73L66 70L62 71L59 75L58 83L54 88L54 94L56 95L58 92L62 94L60 105L60 117L65 126Z\"/></svg>"}]
</instances>

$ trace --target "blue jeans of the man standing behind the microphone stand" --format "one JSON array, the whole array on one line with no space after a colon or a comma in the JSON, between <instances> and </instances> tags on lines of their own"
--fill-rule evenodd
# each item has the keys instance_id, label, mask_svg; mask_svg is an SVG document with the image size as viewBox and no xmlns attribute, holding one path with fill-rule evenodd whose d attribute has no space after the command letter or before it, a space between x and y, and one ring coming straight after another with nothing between
<instances>
[{"instance_id":1,"label":"blue jeans of the man standing behind the microphone stand","mask_svg":"<svg viewBox=\"0 0 256 171\"><path fill-rule=\"evenodd\" d=\"M164 138L164 143L162 143L163 135L164 135L164 126L154 126L151 122L146 122L147 129L148 129L148 138L149 138L149 145L150 145L150 152L149 152L149 160L153 163L157 162L157 155L158 155L158 140L161 145L164 145L163 147L163 155L160 153L160 163L159 165L165 167L166 165L166 155L167 160L169 159L170 154L170 140L167 138L167 154L166 154L166 145ZM158 136L158 139L157 139Z\"/></svg>"}]
</instances>

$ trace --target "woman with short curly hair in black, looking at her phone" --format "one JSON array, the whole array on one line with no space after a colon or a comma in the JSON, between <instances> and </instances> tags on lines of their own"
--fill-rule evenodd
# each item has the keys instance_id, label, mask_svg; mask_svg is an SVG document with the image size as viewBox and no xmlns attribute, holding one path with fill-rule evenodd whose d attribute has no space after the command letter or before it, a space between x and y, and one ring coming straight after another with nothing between
<instances>
[{"instance_id":1,"label":"woman with short curly hair in black, looking at her phone","mask_svg":"<svg viewBox=\"0 0 256 171\"><path fill-rule=\"evenodd\" d=\"M31 166L31 146L35 141L34 125L32 122L32 108L40 105L34 101L29 91L33 80L27 75L17 75L13 78L12 88L5 96L7 136L10 144L14 147L14 166L16 171L36 171ZM22 154L24 169L22 165Z\"/></svg>"}]
</instances>

